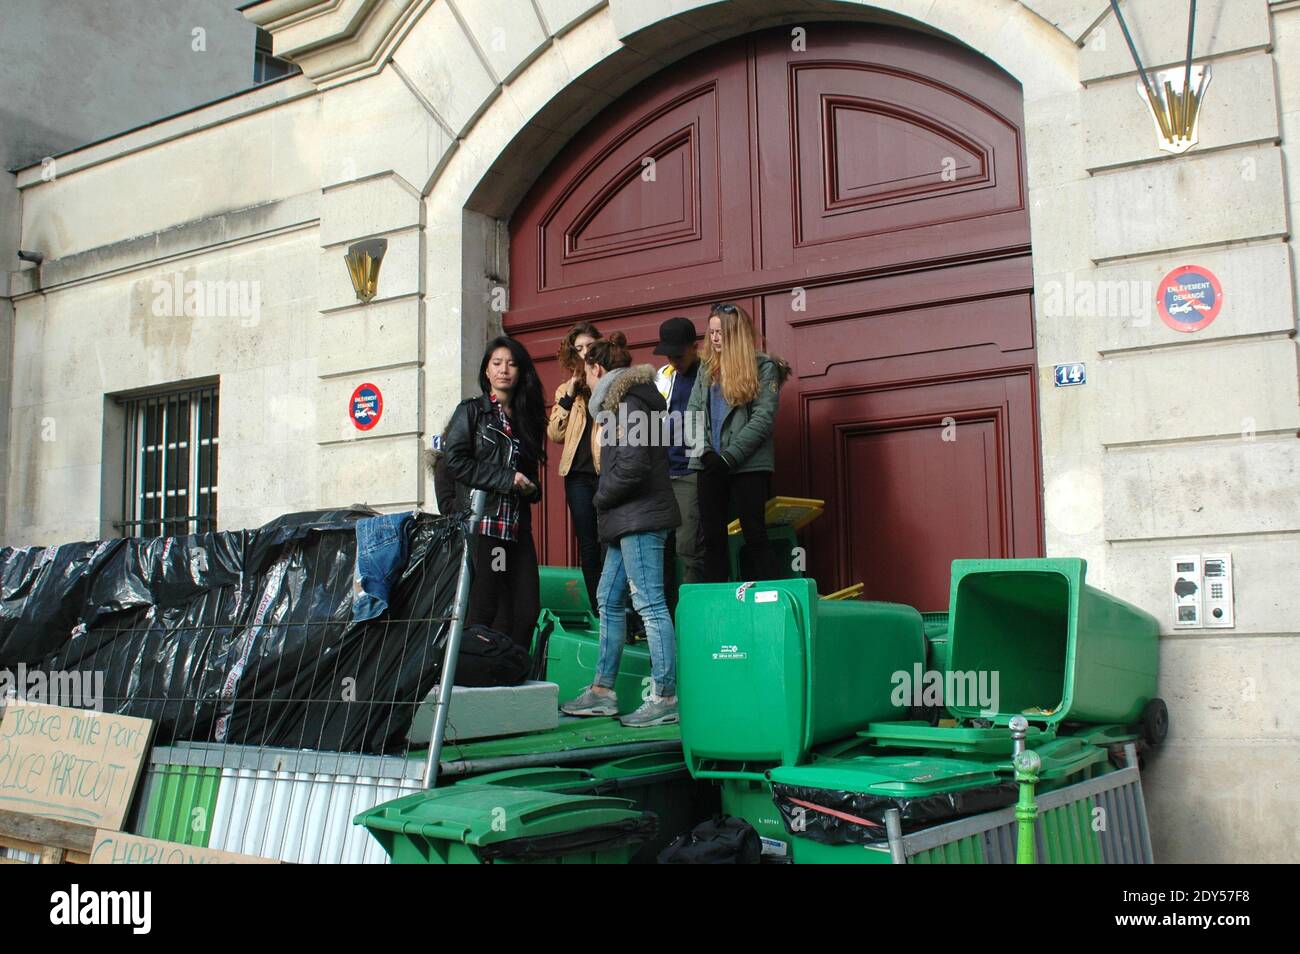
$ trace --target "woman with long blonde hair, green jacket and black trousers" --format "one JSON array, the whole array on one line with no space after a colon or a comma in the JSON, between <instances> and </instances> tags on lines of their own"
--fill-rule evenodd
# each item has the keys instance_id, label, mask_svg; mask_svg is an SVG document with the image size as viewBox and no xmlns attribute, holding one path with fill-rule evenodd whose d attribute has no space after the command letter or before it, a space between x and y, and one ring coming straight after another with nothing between
<instances>
[{"instance_id":1,"label":"woman with long blonde hair, green jacket and black trousers","mask_svg":"<svg viewBox=\"0 0 1300 954\"><path fill-rule=\"evenodd\" d=\"M706 582L725 582L731 574L727 524L733 511L745 534L741 565L755 580L788 576L772 555L763 511L775 465L772 428L790 368L758 351L755 339L754 321L740 305L708 309L708 338L688 404L692 420L703 422L690 467L699 473Z\"/></svg>"}]
</instances>

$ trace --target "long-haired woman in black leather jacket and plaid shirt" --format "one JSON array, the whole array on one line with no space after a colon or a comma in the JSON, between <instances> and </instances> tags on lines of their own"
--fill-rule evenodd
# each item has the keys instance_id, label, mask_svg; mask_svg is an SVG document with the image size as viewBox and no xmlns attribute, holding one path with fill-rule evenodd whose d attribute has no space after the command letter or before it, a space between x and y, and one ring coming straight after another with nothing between
<instances>
[{"instance_id":1,"label":"long-haired woman in black leather jacket and plaid shirt","mask_svg":"<svg viewBox=\"0 0 1300 954\"><path fill-rule=\"evenodd\" d=\"M541 612L532 504L542 496L537 474L546 463L542 382L524 346L502 335L484 351L478 387L482 394L456 406L443 446L458 509L468 509L472 490L488 491L467 621L526 651Z\"/></svg>"}]
</instances>

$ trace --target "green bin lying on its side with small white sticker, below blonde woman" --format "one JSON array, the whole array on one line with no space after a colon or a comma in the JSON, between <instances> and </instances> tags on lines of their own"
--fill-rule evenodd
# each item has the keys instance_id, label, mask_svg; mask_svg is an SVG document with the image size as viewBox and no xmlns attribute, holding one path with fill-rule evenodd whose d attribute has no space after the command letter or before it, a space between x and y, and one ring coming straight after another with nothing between
<instances>
[{"instance_id":1,"label":"green bin lying on its side with small white sticker, below blonde woman","mask_svg":"<svg viewBox=\"0 0 1300 954\"><path fill-rule=\"evenodd\" d=\"M681 587L681 742L696 777L797 764L814 746L900 717L894 673L926 658L920 613L824 600L812 580ZM758 777L762 777L760 775Z\"/></svg>"}]
</instances>

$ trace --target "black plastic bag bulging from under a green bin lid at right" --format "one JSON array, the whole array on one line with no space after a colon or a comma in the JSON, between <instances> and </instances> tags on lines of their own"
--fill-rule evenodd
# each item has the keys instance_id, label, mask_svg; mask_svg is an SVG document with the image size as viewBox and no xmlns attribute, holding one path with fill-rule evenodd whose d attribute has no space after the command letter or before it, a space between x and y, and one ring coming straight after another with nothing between
<instances>
[{"instance_id":1,"label":"black plastic bag bulging from under a green bin lid at right","mask_svg":"<svg viewBox=\"0 0 1300 954\"><path fill-rule=\"evenodd\" d=\"M1017 789L1011 782L919 798L888 798L772 782L772 801L781 812L785 831L823 845L888 845L885 812L890 808L898 810L906 834L967 815L1005 808L1015 798Z\"/></svg>"}]
</instances>

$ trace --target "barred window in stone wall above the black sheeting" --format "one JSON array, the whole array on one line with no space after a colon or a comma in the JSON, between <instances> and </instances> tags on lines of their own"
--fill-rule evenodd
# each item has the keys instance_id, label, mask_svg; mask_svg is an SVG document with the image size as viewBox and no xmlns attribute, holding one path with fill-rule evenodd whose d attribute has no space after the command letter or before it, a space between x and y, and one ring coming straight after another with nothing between
<instances>
[{"instance_id":1,"label":"barred window in stone wall above the black sheeting","mask_svg":"<svg viewBox=\"0 0 1300 954\"><path fill-rule=\"evenodd\" d=\"M122 402L124 537L217 529L217 386Z\"/></svg>"}]
</instances>

